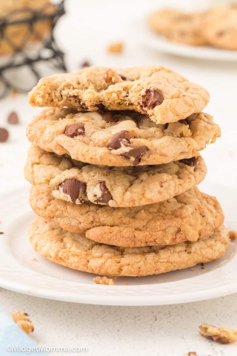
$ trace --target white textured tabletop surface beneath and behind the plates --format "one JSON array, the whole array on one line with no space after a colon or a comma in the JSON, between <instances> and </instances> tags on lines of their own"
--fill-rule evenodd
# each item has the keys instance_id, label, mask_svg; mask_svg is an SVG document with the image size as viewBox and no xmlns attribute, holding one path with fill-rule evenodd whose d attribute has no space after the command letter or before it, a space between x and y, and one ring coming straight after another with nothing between
<instances>
[{"instance_id":1,"label":"white textured tabletop surface beneath and behind the plates","mask_svg":"<svg viewBox=\"0 0 237 356\"><path fill-rule=\"evenodd\" d=\"M201 3L214 2L193 1L189 7L191 3L201 7ZM179 1L179 5L188 6L187 3ZM210 91L206 111L221 126L222 138L202 153L209 169L206 179L235 187L237 65L163 55L138 45L129 33L128 23L157 7L157 1L68 0L67 7L68 14L60 21L57 35L68 53L70 70L78 69L77 65L85 59L93 65L121 67L164 64ZM124 54L106 54L106 45L114 40L125 42ZM22 173L29 146L24 137L25 126L39 109L29 108L25 95L14 99L9 96L1 101L0 108L0 124L8 126L11 135L8 143L0 145L0 193L4 193L26 184ZM5 124L11 110L19 113L21 125ZM19 209L20 206L19 201ZM235 345L219 345L198 336L201 322L237 327L237 295L162 307L98 307L54 302L1 289L0 304L9 313L28 312L35 324L32 337L41 345L86 346L87 355L182 356L187 351L195 351L198 356L237 354Z\"/></svg>"}]
</instances>

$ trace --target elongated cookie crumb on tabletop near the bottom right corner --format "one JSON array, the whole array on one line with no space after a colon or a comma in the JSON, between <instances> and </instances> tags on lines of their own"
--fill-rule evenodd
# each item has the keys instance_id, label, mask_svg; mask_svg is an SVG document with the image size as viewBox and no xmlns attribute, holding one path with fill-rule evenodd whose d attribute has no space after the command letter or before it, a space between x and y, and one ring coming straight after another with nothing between
<instances>
[{"instance_id":1,"label":"elongated cookie crumb on tabletop near the bottom right corner","mask_svg":"<svg viewBox=\"0 0 237 356\"><path fill-rule=\"evenodd\" d=\"M214 325L201 324L199 334L219 344L232 344L237 340L237 329L217 328Z\"/></svg>"}]
</instances>

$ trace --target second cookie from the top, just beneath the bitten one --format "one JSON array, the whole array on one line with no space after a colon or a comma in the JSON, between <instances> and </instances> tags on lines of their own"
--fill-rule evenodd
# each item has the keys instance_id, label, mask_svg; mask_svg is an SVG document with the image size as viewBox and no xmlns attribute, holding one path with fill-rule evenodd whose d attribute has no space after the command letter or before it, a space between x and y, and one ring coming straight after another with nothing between
<instances>
[{"instance_id":1,"label":"second cookie from the top, just beneath the bitten one","mask_svg":"<svg viewBox=\"0 0 237 356\"><path fill-rule=\"evenodd\" d=\"M134 111L99 114L48 108L34 117L26 135L42 150L68 153L77 161L142 166L198 156L209 142L221 136L221 130L204 112L157 125Z\"/></svg>"}]
</instances>

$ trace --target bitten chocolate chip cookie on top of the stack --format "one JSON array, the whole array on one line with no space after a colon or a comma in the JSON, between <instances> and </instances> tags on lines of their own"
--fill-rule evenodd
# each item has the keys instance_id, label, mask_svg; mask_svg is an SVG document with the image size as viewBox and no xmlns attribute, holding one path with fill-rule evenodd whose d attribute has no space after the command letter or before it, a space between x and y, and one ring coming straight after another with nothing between
<instances>
[{"instance_id":1,"label":"bitten chocolate chip cookie on top of the stack","mask_svg":"<svg viewBox=\"0 0 237 356\"><path fill-rule=\"evenodd\" d=\"M162 66L89 67L42 78L28 98L32 106L134 110L166 124L203 110L209 93Z\"/></svg>"}]
</instances>

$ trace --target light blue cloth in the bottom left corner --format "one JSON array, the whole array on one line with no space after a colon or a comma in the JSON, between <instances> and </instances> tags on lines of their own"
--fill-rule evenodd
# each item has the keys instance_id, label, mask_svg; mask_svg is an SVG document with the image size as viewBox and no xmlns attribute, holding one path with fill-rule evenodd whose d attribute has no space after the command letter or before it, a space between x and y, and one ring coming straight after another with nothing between
<instances>
[{"instance_id":1,"label":"light blue cloth in the bottom left corner","mask_svg":"<svg viewBox=\"0 0 237 356\"><path fill-rule=\"evenodd\" d=\"M26 349L25 351L23 351L23 349L21 352L19 352L20 349L18 352L14 352L14 349L10 349L12 346L25 346ZM0 355L30 355L27 351L29 351L30 347L36 346L37 345L34 344L31 338L26 333L24 333L23 330L18 328L16 323L0 308ZM7 349L9 351L7 351ZM32 352L31 355L46 356L46 354L41 351Z\"/></svg>"}]
</instances>

